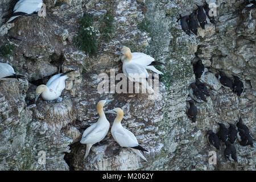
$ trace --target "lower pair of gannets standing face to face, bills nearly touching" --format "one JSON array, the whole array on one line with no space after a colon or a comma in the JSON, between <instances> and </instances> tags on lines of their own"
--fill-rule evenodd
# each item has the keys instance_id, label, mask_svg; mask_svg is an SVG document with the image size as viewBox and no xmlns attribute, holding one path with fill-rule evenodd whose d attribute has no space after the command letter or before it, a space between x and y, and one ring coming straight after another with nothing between
<instances>
[{"instance_id":1,"label":"lower pair of gannets standing face to face, bills nearly touching","mask_svg":"<svg viewBox=\"0 0 256 182\"><path fill-rule=\"evenodd\" d=\"M123 110L119 107L106 111L104 113L103 107L113 100L101 100L97 104L97 111L100 115L98 121L94 123L92 126L88 127L84 133L82 134L82 139L80 143L86 144L86 152L84 159L88 156L90 148L93 144L100 142L105 138L106 134L108 134L110 123L108 119L106 119L105 113L117 114L117 117L114 119L113 126L111 128L111 134L115 140L121 147L131 148L135 152L135 154L139 155L142 159L147 159L141 154L141 151L147 151L141 146L131 131L123 128L121 125L121 121L123 119Z\"/></svg>"}]
</instances>

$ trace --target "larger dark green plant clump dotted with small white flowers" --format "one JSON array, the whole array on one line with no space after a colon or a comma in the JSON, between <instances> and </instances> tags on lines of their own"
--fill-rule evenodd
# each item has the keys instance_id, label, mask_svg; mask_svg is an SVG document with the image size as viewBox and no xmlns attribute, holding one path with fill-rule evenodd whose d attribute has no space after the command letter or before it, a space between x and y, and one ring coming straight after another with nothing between
<instances>
[{"instance_id":1,"label":"larger dark green plant clump dotted with small white flowers","mask_svg":"<svg viewBox=\"0 0 256 182\"><path fill-rule=\"evenodd\" d=\"M97 36L99 31L92 26L93 15L85 13L79 20L79 31L73 38L76 47L85 51L88 55L95 55L97 51Z\"/></svg>"}]
</instances>

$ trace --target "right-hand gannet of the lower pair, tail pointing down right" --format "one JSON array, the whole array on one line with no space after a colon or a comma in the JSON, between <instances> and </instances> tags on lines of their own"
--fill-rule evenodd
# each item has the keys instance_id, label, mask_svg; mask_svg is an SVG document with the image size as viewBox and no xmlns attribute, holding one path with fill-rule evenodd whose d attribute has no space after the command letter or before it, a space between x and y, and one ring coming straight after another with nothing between
<instances>
[{"instance_id":1,"label":"right-hand gannet of the lower pair, tail pointing down right","mask_svg":"<svg viewBox=\"0 0 256 182\"><path fill-rule=\"evenodd\" d=\"M139 143L131 131L123 128L121 125L121 121L123 119L123 110L119 107L106 111L105 113L117 114L117 117L114 120L113 126L111 128L111 134L115 140L121 147L131 148L135 152L135 154L139 155L142 159L147 159L141 154L139 150L146 151L144 148L139 146Z\"/></svg>"}]
</instances>

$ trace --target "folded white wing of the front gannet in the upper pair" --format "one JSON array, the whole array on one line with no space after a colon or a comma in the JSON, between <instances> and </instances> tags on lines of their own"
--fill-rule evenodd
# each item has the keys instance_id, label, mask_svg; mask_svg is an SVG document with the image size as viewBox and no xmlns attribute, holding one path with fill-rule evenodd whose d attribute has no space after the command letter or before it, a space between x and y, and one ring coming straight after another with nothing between
<instances>
[{"instance_id":1,"label":"folded white wing of the front gannet in the upper pair","mask_svg":"<svg viewBox=\"0 0 256 182\"><path fill-rule=\"evenodd\" d=\"M131 78L148 78L147 70L139 64L129 64L125 68L125 71Z\"/></svg>"}]
</instances>

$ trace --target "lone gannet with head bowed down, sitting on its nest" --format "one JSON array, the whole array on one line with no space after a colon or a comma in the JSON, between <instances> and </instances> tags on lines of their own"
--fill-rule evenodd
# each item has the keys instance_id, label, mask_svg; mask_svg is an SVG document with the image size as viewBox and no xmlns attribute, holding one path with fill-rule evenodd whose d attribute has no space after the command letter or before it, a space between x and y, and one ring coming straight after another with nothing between
<instances>
[{"instance_id":1,"label":"lone gannet with head bowed down, sitting on its nest","mask_svg":"<svg viewBox=\"0 0 256 182\"><path fill-rule=\"evenodd\" d=\"M75 70L71 70L65 73L59 73L55 76L52 76L46 83L46 85L39 85L36 88L36 98L35 102L38 100L41 95L43 100L61 102L62 98L60 97L61 92L65 88L65 80L68 78L68 73Z\"/></svg>"}]
</instances>

